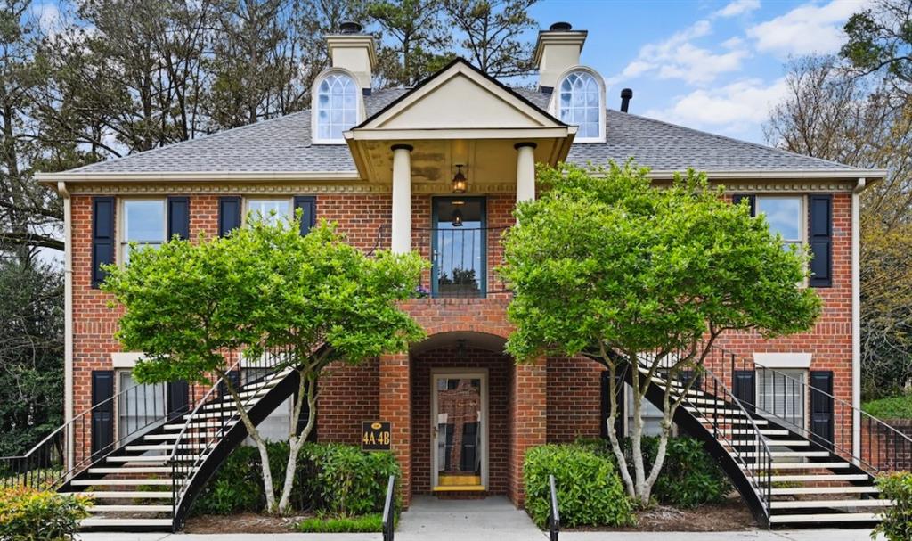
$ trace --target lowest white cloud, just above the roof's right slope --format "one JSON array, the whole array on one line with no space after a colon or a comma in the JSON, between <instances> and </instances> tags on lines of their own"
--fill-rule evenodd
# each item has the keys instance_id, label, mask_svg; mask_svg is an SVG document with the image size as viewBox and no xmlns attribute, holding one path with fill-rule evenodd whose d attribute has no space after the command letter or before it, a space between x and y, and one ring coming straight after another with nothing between
<instances>
[{"instance_id":1,"label":"lowest white cloud, just above the roof's right slope","mask_svg":"<svg viewBox=\"0 0 912 541\"><path fill-rule=\"evenodd\" d=\"M785 93L784 78L772 84L750 78L720 88L694 90L676 98L668 109L651 109L646 116L692 128L744 133L756 130Z\"/></svg>"}]
</instances>

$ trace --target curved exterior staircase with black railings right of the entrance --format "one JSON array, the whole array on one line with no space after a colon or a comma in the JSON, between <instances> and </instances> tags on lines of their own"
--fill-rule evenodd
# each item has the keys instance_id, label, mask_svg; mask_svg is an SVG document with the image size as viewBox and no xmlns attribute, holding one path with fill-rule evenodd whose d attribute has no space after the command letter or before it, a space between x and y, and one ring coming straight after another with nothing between
<instances>
[{"instance_id":1,"label":"curved exterior staircase with black railings right of the entrance","mask_svg":"<svg viewBox=\"0 0 912 541\"><path fill-rule=\"evenodd\" d=\"M631 372L625 374L628 383ZM639 372L646 383L648 369L641 367ZM867 448L862 445L853 452L851 431L834 431L832 424L829 432L814 431L804 428L803 419L766 411L765 404L756 403L762 401L753 400L752 391L736 396L726 383L751 372L787 381L782 389L791 389L793 400L834 404L841 419L860 417ZM694 373L699 375L694 378ZM908 468L912 441L901 432L825 390L724 350L710 355L704 369L679 372L670 381L668 377L668 372L654 373L646 398L659 409L667 388L672 397L681 399L675 415L679 428L704 443L759 524L874 525L878 514L894 505L880 497L875 477Z\"/></svg>"}]
</instances>

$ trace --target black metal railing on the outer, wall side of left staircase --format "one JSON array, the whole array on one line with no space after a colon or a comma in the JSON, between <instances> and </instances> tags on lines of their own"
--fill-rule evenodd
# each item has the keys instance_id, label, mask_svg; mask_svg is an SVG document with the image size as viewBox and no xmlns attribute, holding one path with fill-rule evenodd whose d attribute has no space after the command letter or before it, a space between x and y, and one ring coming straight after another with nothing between
<instances>
[{"instance_id":1,"label":"black metal railing on the outer, wall side of left staircase","mask_svg":"<svg viewBox=\"0 0 912 541\"><path fill-rule=\"evenodd\" d=\"M109 453L189 411L198 392L190 386L186 401L170 398L165 384L140 383L120 390L57 427L27 453L0 457L0 487L56 489Z\"/></svg>"}]
</instances>

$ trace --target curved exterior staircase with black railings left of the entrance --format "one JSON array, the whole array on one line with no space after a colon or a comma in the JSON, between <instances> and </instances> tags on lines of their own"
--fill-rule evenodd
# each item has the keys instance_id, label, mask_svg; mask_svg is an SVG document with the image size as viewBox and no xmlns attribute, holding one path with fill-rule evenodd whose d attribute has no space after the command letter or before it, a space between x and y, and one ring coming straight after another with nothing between
<instances>
[{"instance_id":1,"label":"curved exterior staircase with black railings left of the entrance","mask_svg":"<svg viewBox=\"0 0 912 541\"><path fill-rule=\"evenodd\" d=\"M238 385L244 409L259 424L269 413L294 396L297 372L270 369L262 361L255 380L242 384L243 360L229 372ZM139 387L139 386L138 386ZM131 388L130 390L134 390ZM121 391L112 400L125 392ZM194 397L195 398L195 397ZM98 404L104 407L104 404ZM91 418L91 411L87 411ZM143 427L132 427L109 447L85 457L83 449L68 453L72 432L86 425L68 423L23 457L0 459L0 467L24 473L20 479L35 487L54 486L62 494L86 494L94 505L80 529L172 532L182 528L193 501L227 456L244 442L247 430L225 382L219 380L182 412L155 416ZM90 424L90 423L88 423ZM79 442L86 442L81 434ZM90 437L90 436L89 436ZM72 467L65 465L73 463ZM5 466L5 467L4 467ZM40 474L27 474L28 472Z\"/></svg>"}]
</instances>

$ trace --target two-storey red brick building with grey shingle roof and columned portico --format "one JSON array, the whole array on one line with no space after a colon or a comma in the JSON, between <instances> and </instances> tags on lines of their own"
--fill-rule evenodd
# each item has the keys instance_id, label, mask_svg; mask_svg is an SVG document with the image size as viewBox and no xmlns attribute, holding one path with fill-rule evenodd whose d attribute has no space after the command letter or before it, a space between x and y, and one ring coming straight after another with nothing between
<instances>
[{"instance_id":1,"label":"two-storey red brick building with grey shingle roof and columned portico","mask_svg":"<svg viewBox=\"0 0 912 541\"><path fill-rule=\"evenodd\" d=\"M248 213L301 208L306 221L337 222L365 251L417 250L433 265L427 296L404 305L428 338L408 354L331 369L317 439L358 443L361 421L389 421L407 499L472 491L521 505L525 450L598 437L605 383L586 359L517 365L503 353L510 293L493 270L498 239L514 204L535 197L536 162L628 158L656 182L690 167L707 172L750 198L787 242L814 252L808 286L825 305L814 329L774 340L725 336L720 346L802 384L828 381L836 400L858 404L858 193L883 172L639 117L627 99L609 109L602 76L580 64L586 32L566 25L539 34L534 90L505 87L462 60L414 88L372 88L372 38L348 30L328 37L332 68L316 79L312 109L40 176L66 205L67 420L129 388L141 356L113 338L119 311L98 290L98 265L125 263L130 242L225 234ZM802 385L792 385L800 396L777 392L762 374L750 385L773 414L810 422ZM145 392L121 397L98 422L117 433L161 414L161 404L138 413ZM171 401L181 390L149 392ZM851 450L860 431L848 411L831 411L830 430ZM287 406L264 422L284 432Z\"/></svg>"}]
</instances>

